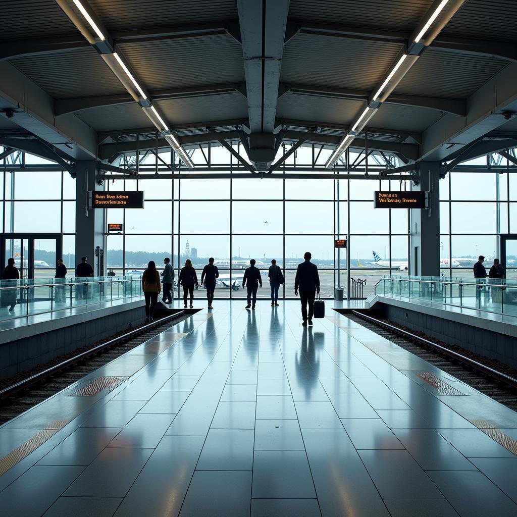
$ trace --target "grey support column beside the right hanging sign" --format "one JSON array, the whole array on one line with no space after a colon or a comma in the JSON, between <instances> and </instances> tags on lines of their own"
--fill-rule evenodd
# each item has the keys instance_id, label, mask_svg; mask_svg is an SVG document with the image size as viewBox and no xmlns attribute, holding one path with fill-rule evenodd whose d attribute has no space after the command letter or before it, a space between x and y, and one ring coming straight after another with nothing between
<instances>
[{"instance_id":1,"label":"grey support column beside the right hanging sign","mask_svg":"<svg viewBox=\"0 0 517 517\"><path fill-rule=\"evenodd\" d=\"M420 163L420 183L411 190L429 192L429 209L409 210L409 274L440 276L439 162Z\"/></svg>"}]
</instances>

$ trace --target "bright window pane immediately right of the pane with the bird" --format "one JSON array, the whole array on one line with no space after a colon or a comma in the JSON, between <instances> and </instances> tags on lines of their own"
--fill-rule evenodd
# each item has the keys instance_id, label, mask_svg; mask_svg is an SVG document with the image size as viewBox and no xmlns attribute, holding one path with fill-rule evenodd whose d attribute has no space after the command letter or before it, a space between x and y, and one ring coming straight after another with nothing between
<instances>
[{"instance_id":1,"label":"bright window pane immediately right of the pane with the bird","mask_svg":"<svg viewBox=\"0 0 517 517\"><path fill-rule=\"evenodd\" d=\"M285 233L334 233L333 203L286 201Z\"/></svg>"}]
</instances>

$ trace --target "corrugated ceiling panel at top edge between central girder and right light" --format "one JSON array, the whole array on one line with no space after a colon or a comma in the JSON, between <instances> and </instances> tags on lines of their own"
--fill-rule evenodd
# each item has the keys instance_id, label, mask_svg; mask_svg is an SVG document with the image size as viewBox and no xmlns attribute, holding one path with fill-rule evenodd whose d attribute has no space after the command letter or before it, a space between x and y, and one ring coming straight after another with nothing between
<instances>
[{"instance_id":1,"label":"corrugated ceiling panel at top edge between central girder and right light","mask_svg":"<svg viewBox=\"0 0 517 517\"><path fill-rule=\"evenodd\" d=\"M433 0L291 0L289 16L339 25L412 31Z\"/></svg>"}]
</instances>

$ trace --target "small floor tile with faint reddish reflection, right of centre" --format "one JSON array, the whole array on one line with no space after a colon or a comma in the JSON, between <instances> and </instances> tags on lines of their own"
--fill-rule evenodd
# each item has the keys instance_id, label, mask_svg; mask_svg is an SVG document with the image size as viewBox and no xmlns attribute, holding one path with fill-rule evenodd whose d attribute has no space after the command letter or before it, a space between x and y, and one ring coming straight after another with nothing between
<instances>
[{"instance_id":1,"label":"small floor tile with faint reddish reflection, right of centre","mask_svg":"<svg viewBox=\"0 0 517 517\"><path fill-rule=\"evenodd\" d=\"M356 449L404 449L380 418L342 419L341 422Z\"/></svg>"}]
</instances>

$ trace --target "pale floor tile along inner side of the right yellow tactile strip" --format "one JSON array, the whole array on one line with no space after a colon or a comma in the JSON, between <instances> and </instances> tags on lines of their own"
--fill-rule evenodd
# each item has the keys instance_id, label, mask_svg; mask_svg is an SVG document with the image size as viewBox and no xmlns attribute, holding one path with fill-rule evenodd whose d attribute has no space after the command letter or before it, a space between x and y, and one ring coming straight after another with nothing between
<instances>
[{"instance_id":1,"label":"pale floor tile along inner side of the right yellow tactile strip","mask_svg":"<svg viewBox=\"0 0 517 517\"><path fill-rule=\"evenodd\" d=\"M515 458L479 429L439 429L438 432L467 458Z\"/></svg>"}]
</instances>

